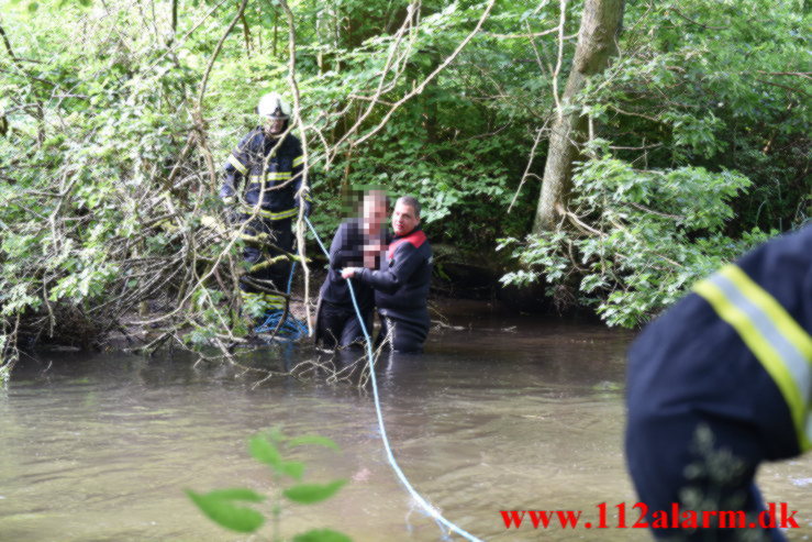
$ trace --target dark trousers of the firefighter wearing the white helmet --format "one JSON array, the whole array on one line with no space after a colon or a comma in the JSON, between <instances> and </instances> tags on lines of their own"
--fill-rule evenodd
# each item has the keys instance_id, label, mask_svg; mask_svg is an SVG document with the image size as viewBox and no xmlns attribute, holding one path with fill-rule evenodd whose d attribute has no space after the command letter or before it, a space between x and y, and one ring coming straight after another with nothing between
<instances>
[{"instance_id":1,"label":"dark trousers of the firefighter wearing the white helmet","mask_svg":"<svg viewBox=\"0 0 812 542\"><path fill-rule=\"evenodd\" d=\"M248 217L244 215L243 220ZM279 256L285 252L291 252L293 248L293 233L291 230L292 219L269 220L256 218L248 222L245 233L248 235L267 234L269 243L256 244L248 243L243 250L243 259L254 266L266 262L267 258ZM274 246L270 246L270 245ZM290 277L290 261L285 258L271 266L262 267L251 270L240 280L240 288L247 292L263 292L263 289L270 288L280 292L286 292L288 288L288 279Z\"/></svg>"}]
</instances>

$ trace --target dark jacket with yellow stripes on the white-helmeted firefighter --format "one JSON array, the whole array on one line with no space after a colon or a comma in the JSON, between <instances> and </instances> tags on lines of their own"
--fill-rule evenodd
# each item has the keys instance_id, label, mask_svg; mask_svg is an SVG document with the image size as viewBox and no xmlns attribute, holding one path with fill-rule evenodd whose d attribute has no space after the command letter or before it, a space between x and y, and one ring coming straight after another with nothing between
<instances>
[{"instance_id":1,"label":"dark jacket with yellow stripes on the white-helmeted firefighter","mask_svg":"<svg viewBox=\"0 0 812 542\"><path fill-rule=\"evenodd\" d=\"M259 214L270 220L283 220L298 213L297 192L302 185L302 146L288 134L279 142L257 126L231 152L225 162L225 182L220 189L224 200L238 199L246 182L243 211L251 213L259 202ZM264 185L264 186L263 186ZM305 206L310 199L305 197Z\"/></svg>"}]
</instances>

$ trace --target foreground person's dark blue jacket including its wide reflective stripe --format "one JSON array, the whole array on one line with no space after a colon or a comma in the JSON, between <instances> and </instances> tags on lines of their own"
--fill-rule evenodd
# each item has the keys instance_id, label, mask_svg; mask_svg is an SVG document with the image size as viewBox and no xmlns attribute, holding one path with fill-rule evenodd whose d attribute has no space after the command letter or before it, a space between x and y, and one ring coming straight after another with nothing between
<instances>
[{"instance_id":1,"label":"foreground person's dark blue jacket including its wide reflective stripe","mask_svg":"<svg viewBox=\"0 0 812 542\"><path fill-rule=\"evenodd\" d=\"M810 334L807 225L702 280L644 330L630 351L630 424L702 412L754 428L770 460L796 455L812 436ZM776 388L783 401L763 399Z\"/></svg>"}]
</instances>

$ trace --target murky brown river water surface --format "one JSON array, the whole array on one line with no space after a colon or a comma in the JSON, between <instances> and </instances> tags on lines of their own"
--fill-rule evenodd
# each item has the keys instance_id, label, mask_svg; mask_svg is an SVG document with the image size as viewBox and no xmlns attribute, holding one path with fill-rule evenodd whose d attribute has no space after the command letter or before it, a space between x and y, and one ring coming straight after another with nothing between
<instances>
[{"instance_id":1,"label":"murky brown river water surface","mask_svg":"<svg viewBox=\"0 0 812 542\"><path fill-rule=\"evenodd\" d=\"M379 387L396 456L446 518L483 540L649 540L639 529L504 528L500 510L583 510L636 498L623 453L624 353L634 334L600 323L503 317L482 303L449 310L426 354L381 361ZM461 329L459 329L461 328ZM315 356L269 347L244 355L276 367ZM363 541L435 541L441 531L398 483L371 395L323 378L257 377L183 357L42 354L0 390L0 541L270 540L225 531L182 490L271 490L247 440L281 425L332 438L301 446L305 480L346 478L332 499L287 506L281 532L329 527ZM768 465L768 501L798 509L812 535L812 460ZM634 513L630 511L629 517ZM454 538L454 540L460 540Z\"/></svg>"}]
</instances>

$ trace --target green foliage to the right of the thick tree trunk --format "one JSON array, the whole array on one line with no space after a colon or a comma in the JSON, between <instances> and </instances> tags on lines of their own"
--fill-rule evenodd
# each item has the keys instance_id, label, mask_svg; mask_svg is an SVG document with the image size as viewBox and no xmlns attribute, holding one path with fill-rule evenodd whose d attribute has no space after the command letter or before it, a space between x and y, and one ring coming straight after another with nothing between
<instances>
[{"instance_id":1,"label":"green foliage to the right of the thick tree trunk","mask_svg":"<svg viewBox=\"0 0 812 542\"><path fill-rule=\"evenodd\" d=\"M799 2L630 7L616 62L569 107L591 121L567 228L507 283L637 325L812 214L810 16Z\"/></svg>"}]
</instances>

